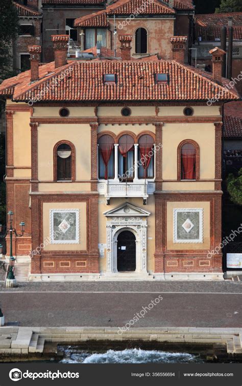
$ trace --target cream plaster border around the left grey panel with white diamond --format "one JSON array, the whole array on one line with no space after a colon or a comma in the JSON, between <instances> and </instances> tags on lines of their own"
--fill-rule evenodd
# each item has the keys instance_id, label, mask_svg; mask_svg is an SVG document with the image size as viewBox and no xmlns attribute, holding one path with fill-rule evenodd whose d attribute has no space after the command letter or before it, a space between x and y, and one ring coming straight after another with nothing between
<instances>
[{"instance_id":1,"label":"cream plaster border around the left grey panel with white diamond","mask_svg":"<svg viewBox=\"0 0 242 386\"><path fill-rule=\"evenodd\" d=\"M86 202L43 202L43 241L50 239L50 210L51 209L79 209L79 244L50 244L44 251L85 251L86 244Z\"/></svg>"}]
</instances>

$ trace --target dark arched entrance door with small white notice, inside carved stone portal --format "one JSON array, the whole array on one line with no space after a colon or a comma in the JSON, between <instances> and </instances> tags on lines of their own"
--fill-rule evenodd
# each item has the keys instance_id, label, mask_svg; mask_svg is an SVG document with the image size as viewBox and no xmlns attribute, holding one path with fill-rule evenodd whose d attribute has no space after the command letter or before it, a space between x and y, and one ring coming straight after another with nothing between
<instances>
[{"instance_id":1,"label":"dark arched entrance door with small white notice, inside carved stone portal","mask_svg":"<svg viewBox=\"0 0 242 386\"><path fill-rule=\"evenodd\" d=\"M117 237L117 270L118 272L135 271L136 241L131 231L120 232Z\"/></svg>"}]
</instances>

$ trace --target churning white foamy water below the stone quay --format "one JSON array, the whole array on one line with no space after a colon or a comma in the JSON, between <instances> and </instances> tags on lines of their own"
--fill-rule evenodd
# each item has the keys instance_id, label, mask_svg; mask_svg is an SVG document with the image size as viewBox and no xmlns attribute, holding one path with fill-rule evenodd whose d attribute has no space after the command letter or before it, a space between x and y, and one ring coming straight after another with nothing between
<instances>
[{"instance_id":1,"label":"churning white foamy water below the stone quay","mask_svg":"<svg viewBox=\"0 0 242 386\"><path fill-rule=\"evenodd\" d=\"M120 363L120 364L141 364L141 363L202 363L199 356L182 353L166 352L158 350L125 349L107 350L105 352L80 350L78 348L62 348L64 357L60 363Z\"/></svg>"}]
</instances>

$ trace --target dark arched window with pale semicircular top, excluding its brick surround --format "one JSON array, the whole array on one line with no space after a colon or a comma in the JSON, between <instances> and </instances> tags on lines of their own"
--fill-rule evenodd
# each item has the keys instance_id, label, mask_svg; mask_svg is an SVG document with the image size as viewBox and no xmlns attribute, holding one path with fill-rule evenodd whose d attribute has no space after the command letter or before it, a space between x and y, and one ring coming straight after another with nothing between
<instances>
[{"instance_id":1,"label":"dark arched window with pale semicircular top, excluding its brick surround","mask_svg":"<svg viewBox=\"0 0 242 386\"><path fill-rule=\"evenodd\" d=\"M71 180L71 148L67 144L57 148L57 180Z\"/></svg>"}]
</instances>

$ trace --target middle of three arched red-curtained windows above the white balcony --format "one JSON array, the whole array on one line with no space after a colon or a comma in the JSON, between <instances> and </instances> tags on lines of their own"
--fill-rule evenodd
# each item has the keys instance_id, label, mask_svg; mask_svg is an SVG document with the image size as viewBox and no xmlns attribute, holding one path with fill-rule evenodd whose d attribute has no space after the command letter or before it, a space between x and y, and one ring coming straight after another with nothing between
<instances>
[{"instance_id":1,"label":"middle of three arched red-curtained windows above the white balcony","mask_svg":"<svg viewBox=\"0 0 242 386\"><path fill-rule=\"evenodd\" d=\"M131 181L134 178L134 139L129 134L118 140L118 174L119 179Z\"/></svg>"}]
</instances>

